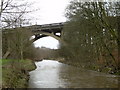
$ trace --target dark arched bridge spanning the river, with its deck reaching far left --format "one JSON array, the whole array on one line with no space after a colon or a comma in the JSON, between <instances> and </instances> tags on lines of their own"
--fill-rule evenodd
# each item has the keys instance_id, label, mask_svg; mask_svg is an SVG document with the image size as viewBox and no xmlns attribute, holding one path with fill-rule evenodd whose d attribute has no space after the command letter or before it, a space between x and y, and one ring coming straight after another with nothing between
<instances>
[{"instance_id":1,"label":"dark arched bridge spanning the river, with its deck reaching far left","mask_svg":"<svg viewBox=\"0 0 120 90\"><path fill-rule=\"evenodd\" d=\"M62 22L62 23L32 25L32 26L17 27L17 28L24 28L27 30L27 32L30 32L32 34L32 36L35 36L35 38L31 40L31 43L33 43L34 41L36 41L40 38L51 36L66 45L66 43L61 39L61 33L62 33L63 26L64 26L64 23ZM7 34L14 35L15 31L17 31L15 29L16 28L3 29L2 33L6 34L6 35ZM24 31L24 29L22 29L22 30ZM4 41L7 44L6 40L4 40ZM8 50L4 54L3 58L6 58L9 54L10 54L10 51Z\"/></svg>"}]
</instances>

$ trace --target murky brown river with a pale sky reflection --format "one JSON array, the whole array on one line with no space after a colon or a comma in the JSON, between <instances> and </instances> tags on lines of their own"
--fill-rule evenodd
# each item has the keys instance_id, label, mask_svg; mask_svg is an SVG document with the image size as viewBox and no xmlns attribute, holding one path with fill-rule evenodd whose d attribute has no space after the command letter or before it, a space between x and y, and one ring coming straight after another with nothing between
<instances>
[{"instance_id":1,"label":"murky brown river with a pale sky reflection","mask_svg":"<svg viewBox=\"0 0 120 90\"><path fill-rule=\"evenodd\" d=\"M117 88L118 76L85 70L60 63L43 60L35 62L37 68L31 72L30 88Z\"/></svg>"}]
</instances>

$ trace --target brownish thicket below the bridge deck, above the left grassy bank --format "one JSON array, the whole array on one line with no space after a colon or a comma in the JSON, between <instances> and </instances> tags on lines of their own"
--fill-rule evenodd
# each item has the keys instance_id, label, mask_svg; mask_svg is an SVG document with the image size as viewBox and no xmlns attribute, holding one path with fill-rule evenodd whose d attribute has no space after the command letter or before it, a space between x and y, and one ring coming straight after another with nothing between
<instances>
[{"instance_id":1,"label":"brownish thicket below the bridge deck, above the left grassy bank","mask_svg":"<svg viewBox=\"0 0 120 90\"><path fill-rule=\"evenodd\" d=\"M3 55L10 51L9 58L23 59L24 53L32 53L31 47L34 47L30 41L31 32L26 28L16 28L6 30L3 33ZM30 51L30 52L28 52Z\"/></svg>"}]
</instances>

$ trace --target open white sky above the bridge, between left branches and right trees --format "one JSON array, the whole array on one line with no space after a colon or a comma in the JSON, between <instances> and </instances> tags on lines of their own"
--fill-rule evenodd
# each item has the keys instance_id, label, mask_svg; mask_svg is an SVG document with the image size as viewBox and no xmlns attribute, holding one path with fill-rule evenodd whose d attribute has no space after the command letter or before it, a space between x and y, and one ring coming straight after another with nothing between
<instances>
[{"instance_id":1,"label":"open white sky above the bridge, between left branches and right trees","mask_svg":"<svg viewBox=\"0 0 120 90\"><path fill-rule=\"evenodd\" d=\"M33 8L39 9L31 15L34 17L34 24L47 24L64 22L64 12L70 0L31 0Z\"/></svg>"}]
</instances>

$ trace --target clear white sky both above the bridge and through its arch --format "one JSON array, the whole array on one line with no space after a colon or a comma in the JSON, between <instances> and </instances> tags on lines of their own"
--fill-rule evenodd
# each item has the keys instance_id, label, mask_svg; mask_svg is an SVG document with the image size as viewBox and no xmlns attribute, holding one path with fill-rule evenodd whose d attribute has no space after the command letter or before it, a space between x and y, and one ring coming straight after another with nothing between
<instances>
[{"instance_id":1,"label":"clear white sky both above the bridge and through its arch","mask_svg":"<svg viewBox=\"0 0 120 90\"><path fill-rule=\"evenodd\" d=\"M69 4L70 0L30 0L35 2L31 9L40 9L29 15L32 18L32 24L49 24L65 22L64 16L65 8ZM56 49L59 42L52 37L45 37L37 40L35 43L36 47L48 47Z\"/></svg>"}]
</instances>

